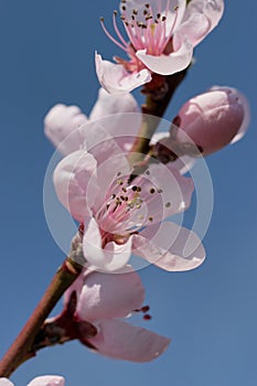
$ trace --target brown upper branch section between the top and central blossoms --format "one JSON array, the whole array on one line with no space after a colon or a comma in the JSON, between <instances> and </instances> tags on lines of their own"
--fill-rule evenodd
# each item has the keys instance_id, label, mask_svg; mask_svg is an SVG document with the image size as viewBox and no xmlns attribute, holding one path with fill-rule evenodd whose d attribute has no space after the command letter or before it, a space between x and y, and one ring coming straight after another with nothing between
<instances>
[{"instance_id":1,"label":"brown upper branch section between the top and central blossoms","mask_svg":"<svg viewBox=\"0 0 257 386\"><path fill-rule=\"evenodd\" d=\"M154 74L153 79L144 85L142 93L147 95L147 98L144 105L141 106L142 122L128 157L131 167L142 161L143 154L149 152L149 143L158 128L160 118L186 72L188 68L165 77Z\"/></svg>"}]
</instances>

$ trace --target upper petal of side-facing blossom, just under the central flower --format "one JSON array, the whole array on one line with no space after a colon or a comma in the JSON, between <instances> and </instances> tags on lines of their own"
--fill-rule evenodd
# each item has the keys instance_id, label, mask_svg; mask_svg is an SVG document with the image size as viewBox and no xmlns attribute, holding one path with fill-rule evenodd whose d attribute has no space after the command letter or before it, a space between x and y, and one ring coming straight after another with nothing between
<instances>
[{"instance_id":1,"label":"upper petal of side-facing blossom, just under the central flower","mask_svg":"<svg viewBox=\"0 0 257 386\"><path fill-rule=\"evenodd\" d=\"M81 320L94 322L100 319L124 318L142 307L144 289L136 271L84 274L83 282L77 292L76 310ZM72 286L69 291L76 288L78 286Z\"/></svg>"}]
</instances>

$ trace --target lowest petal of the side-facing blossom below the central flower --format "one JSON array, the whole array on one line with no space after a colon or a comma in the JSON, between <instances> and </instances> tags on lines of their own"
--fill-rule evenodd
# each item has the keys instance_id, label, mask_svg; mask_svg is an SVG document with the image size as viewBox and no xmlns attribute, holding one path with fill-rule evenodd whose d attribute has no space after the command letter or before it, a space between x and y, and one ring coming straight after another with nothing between
<instances>
[{"instance_id":1,"label":"lowest petal of the side-facing blossom below the central flower","mask_svg":"<svg viewBox=\"0 0 257 386\"><path fill-rule=\"evenodd\" d=\"M168 337L119 320L99 323L99 333L88 340L100 354L131 362L150 362L170 344Z\"/></svg>"}]
</instances>

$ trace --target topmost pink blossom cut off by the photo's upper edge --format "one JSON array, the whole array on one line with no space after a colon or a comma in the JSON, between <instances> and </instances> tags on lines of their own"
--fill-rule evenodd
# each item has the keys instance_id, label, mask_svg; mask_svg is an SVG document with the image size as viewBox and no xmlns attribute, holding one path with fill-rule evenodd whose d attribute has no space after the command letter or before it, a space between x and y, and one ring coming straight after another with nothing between
<instances>
[{"instance_id":1,"label":"topmost pink blossom cut off by the photo's upper edge","mask_svg":"<svg viewBox=\"0 0 257 386\"><path fill-rule=\"evenodd\" d=\"M124 0L121 22L128 35L122 36L114 12L114 37L104 24L107 36L129 56L115 57L118 64L103 61L96 53L96 72L109 93L129 93L152 78L152 73L172 75L186 68L197 45L218 23L223 0Z\"/></svg>"}]
</instances>

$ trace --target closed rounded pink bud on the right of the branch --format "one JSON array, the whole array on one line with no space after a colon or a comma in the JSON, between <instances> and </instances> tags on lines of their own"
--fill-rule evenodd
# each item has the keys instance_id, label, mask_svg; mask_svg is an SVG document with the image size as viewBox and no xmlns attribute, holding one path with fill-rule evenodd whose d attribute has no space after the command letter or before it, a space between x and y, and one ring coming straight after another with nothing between
<instances>
[{"instance_id":1,"label":"closed rounded pink bud on the right of the branch","mask_svg":"<svg viewBox=\"0 0 257 386\"><path fill-rule=\"evenodd\" d=\"M249 107L237 89L215 86L186 101L175 119L176 140L186 142L185 133L207 156L244 136Z\"/></svg>"}]
</instances>

